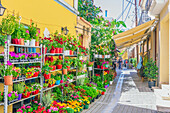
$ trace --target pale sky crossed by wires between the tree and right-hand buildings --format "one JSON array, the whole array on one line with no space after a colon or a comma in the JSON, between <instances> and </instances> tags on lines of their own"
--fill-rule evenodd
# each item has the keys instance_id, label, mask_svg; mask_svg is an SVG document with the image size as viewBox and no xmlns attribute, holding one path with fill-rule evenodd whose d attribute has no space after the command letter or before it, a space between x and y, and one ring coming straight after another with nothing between
<instances>
[{"instance_id":1,"label":"pale sky crossed by wires between the tree and right-hand buildings","mask_svg":"<svg viewBox=\"0 0 170 113\"><path fill-rule=\"evenodd\" d=\"M108 17L113 17L114 19L117 19L119 15L121 15L122 13L123 1L124 1L124 8L128 5L129 3L128 1L135 3L135 0L94 0L94 4L96 6L100 6L101 9L103 10L103 13L100 15L105 16L105 10L108 10ZM130 6L131 6L131 9L130 9ZM129 14L128 14L128 11L129 11ZM123 15L123 21L125 21L125 18L128 15L125 21L128 29L135 27L135 13L134 12L135 12L135 6L129 3ZM122 20L122 17L119 20Z\"/></svg>"}]
</instances>

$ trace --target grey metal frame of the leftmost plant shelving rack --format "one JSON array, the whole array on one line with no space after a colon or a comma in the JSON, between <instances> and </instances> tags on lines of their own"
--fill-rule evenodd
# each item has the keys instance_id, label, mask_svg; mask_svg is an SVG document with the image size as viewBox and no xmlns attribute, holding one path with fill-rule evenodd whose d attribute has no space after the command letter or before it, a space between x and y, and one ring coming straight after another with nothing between
<instances>
[{"instance_id":1,"label":"grey metal frame of the leftmost plant shelving rack","mask_svg":"<svg viewBox=\"0 0 170 113\"><path fill-rule=\"evenodd\" d=\"M9 52L10 52L10 47L13 46L14 49L16 48L18 50L18 48L21 48L23 49L24 51L21 51L21 53L26 53L26 51L28 52L28 48L39 48L40 49L40 53L41 53L41 60L39 61L32 61L32 62L14 62L12 63L13 65L15 64L30 64L30 63L40 63L40 70L42 68L42 45L40 46L26 46L26 45L17 45L17 44L10 44L10 41L8 40L7 43L5 44L5 47L4 47L4 54L0 54L0 56L4 56L4 64L5 64L5 68L7 68L7 61L9 61ZM16 82L21 82L21 81L27 81L27 80L32 80L32 79L36 79L36 78L40 78L40 82L42 83L42 74L40 73L40 76L39 77L33 77L33 78L24 78L24 77L21 77L17 80L13 80L13 83L16 83ZM2 78L1 78L2 79ZM41 84L42 85L42 84ZM4 106L4 113L8 113L8 106L9 105L14 105L16 103L19 103L21 102L21 105L23 104L23 101L24 100L27 100L27 99L30 99L32 97L35 97L37 95L41 95L42 94L42 90L40 93L38 94L35 94L35 95L31 95L30 97L28 98L23 98L21 100L18 100L18 101L15 101L13 103L10 103L8 104L8 85L4 85L4 102L3 103L0 103L0 105L3 105ZM40 97L40 101L42 100L42 96Z\"/></svg>"}]
</instances>

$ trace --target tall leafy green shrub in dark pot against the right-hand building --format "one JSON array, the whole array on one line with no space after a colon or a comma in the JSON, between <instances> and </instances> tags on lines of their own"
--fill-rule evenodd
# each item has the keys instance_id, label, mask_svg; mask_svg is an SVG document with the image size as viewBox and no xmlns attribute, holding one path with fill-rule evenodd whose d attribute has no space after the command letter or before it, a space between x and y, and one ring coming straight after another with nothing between
<instances>
[{"instance_id":1,"label":"tall leafy green shrub in dark pot against the right-hand building","mask_svg":"<svg viewBox=\"0 0 170 113\"><path fill-rule=\"evenodd\" d=\"M153 59L149 59L145 64L144 74L148 77L148 86L152 88L156 85L156 79L158 75L158 67L156 66L156 62Z\"/></svg>"}]
</instances>

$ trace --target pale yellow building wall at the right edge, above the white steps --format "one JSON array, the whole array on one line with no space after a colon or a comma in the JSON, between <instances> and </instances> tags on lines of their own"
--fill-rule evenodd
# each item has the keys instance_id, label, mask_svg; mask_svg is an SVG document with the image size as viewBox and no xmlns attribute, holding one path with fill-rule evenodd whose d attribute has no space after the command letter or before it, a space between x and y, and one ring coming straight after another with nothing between
<instances>
[{"instance_id":1,"label":"pale yellow building wall at the right edge, above the white steps","mask_svg":"<svg viewBox=\"0 0 170 113\"><path fill-rule=\"evenodd\" d=\"M169 14L168 4L160 14L160 84L169 83Z\"/></svg>"}]
</instances>

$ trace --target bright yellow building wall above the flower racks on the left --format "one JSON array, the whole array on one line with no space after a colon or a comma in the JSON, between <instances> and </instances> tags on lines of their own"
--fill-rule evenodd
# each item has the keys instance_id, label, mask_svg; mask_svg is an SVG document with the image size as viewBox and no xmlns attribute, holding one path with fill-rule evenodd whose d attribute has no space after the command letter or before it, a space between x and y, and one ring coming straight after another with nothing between
<instances>
[{"instance_id":1,"label":"bright yellow building wall above the flower racks on the left","mask_svg":"<svg viewBox=\"0 0 170 113\"><path fill-rule=\"evenodd\" d=\"M73 3L73 0L66 0ZM72 1L72 2L71 2ZM56 30L61 32L61 27L66 27L69 33L76 35L76 17L77 15L58 4L55 0L2 0L2 4L7 8L4 16L15 12L22 17L21 22L30 25L30 19L33 20L41 30L41 35L47 27L50 33ZM4 17L2 16L2 17ZM0 20L1 18L0 17Z\"/></svg>"}]
</instances>

